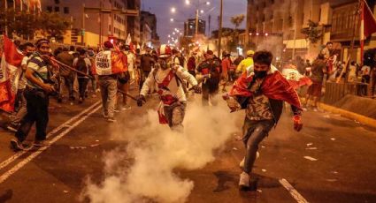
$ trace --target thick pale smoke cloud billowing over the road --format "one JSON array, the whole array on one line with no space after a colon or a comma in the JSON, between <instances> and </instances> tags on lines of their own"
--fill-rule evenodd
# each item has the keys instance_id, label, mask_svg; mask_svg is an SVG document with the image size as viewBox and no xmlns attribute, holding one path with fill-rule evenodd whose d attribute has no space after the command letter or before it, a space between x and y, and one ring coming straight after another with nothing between
<instances>
[{"instance_id":1,"label":"thick pale smoke cloud billowing over the road","mask_svg":"<svg viewBox=\"0 0 376 203\"><path fill-rule=\"evenodd\" d=\"M202 169L220 148L239 130L234 114L224 102L217 107L201 107L189 102L184 132L172 132L158 124L157 112L149 110L113 138L129 142L127 149L104 154L105 177L100 184L88 181L83 196L93 203L104 202L185 202L194 187L179 177L175 169ZM138 126L138 127L137 127Z\"/></svg>"}]
</instances>

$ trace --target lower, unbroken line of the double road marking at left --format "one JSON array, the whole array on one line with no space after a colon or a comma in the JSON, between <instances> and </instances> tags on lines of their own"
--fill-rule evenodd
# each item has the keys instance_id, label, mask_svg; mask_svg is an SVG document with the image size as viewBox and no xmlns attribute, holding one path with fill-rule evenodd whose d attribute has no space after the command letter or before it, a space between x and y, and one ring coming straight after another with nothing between
<instances>
[{"instance_id":1,"label":"lower, unbroken line of the double road marking at left","mask_svg":"<svg viewBox=\"0 0 376 203\"><path fill-rule=\"evenodd\" d=\"M94 114L98 109L101 109L101 108L102 108L102 106L98 106L95 109L91 110L90 112L88 112L87 115L85 115L85 117L81 117L80 120L76 121L74 124L72 124L71 126L69 126L69 128L67 128L64 132L61 132L56 137L54 137L53 139L51 139L49 146L40 147L37 151L35 151L34 153L30 154L29 156L27 156L27 158L25 158L24 160L22 160L21 162L19 162L18 164L16 164L12 169L6 171L0 177L0 184L2 184L8 177L11 177L19 169L21 169L22 167L24 167L28 162L31 162L33 159L35 159L36 156L38 156L39 154L42 154L42 152L44 150L46 150L49 147L51 147L53 143L55 143L55 142L58 141L58 139L63 138L65 136L65 134L67 134L68 132L71 132L73 130L73 128L75 128L77 125L81 124L90 115Z\"/></svg>"}]
</instances>

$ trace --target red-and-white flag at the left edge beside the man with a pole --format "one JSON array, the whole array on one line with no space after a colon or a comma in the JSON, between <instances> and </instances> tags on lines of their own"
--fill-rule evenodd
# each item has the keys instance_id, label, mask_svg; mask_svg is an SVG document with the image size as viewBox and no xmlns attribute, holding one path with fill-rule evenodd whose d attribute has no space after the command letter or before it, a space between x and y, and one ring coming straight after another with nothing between
<instances>
[{"instance_id":1,"label":"red-and-white flag at the left edge beside the man with a pole","mask_svg":"<svg viewBox=\"0 0 376 203\"><path fill-rule=\"evenodd\" d=\"M4 53L0 66L0 109L7 112L14 110L22 58L23 55L16 45L4 36Z\"/></svg>"}]
</instances>

